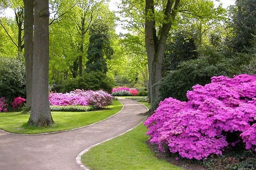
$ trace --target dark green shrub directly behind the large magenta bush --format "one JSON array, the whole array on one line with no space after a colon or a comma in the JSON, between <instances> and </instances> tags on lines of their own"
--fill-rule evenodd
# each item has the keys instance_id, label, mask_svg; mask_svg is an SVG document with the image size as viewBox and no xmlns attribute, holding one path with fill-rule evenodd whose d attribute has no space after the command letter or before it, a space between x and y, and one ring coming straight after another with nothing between
<instances>
[{"instance_id":1,"label":"dark green shrub directly behind the large magenta bush","mask_svg":"<svg viewBox=\"0 0 256 170\"><path fill-rule=\"evenodd\" d=\"M232 59L225 58L214 48L201 48L198 59L181 62L177 70L171 71L160 83L160 100L173 97L186 100L186 92L196 84L205 85L213 76L231 76Z\"/></svg>"}]
</instances>

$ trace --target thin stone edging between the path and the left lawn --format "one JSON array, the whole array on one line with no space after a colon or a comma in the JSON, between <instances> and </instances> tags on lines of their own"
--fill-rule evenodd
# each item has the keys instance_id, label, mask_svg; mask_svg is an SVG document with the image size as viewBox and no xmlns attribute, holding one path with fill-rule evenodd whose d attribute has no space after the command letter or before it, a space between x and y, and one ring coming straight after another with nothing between
<instances>
[{"instance_id":1,"label":"thin stone edging between the path and the left lawn","mask_svg":"<svg viewBox=\"0 0 256 170\"><path fill-rule=\"evenodd\" d=\"M135 101L135 102L136 102L136 101ZM122 102L120 102L120 103L122 104ZM143 106L144 106L144 105L143 105ZM69 130L61 130L61 131L47 132L47 133L36 133L36 134L12 133L12 132L8 132L8 131L6 131L6 130L3 130L3 129L1 129L1 128L0 128L0 131L3 132L3 133L11 134L11 135L28 135L28 136L29 136L29 135L48 135L48 134L54 134L54 133L68 132L68 131L72 131L72 130L81 129L81 128L84 128L84 127L89 127L89 126L98 124L98 123L100 123L100 122L103 122L103 121L105 121L105 120L108 120L108 119L110 119L111 117L116 116L117 114L121 113L121 112L124 110L124 108L125 108L125 106L122 104L122 109L121 109L119 112L113 114L112 116L107 117L106 119L103 119L103 120L101 120L101 121L99 121L99 122L95 122L95 123L90 124L90 125L86 125L86 126L82 126L82 127L76 127L76 128L69 129ZM147 109L148 109L148 108L147 108Z\"/></svg>"}]
</instances>

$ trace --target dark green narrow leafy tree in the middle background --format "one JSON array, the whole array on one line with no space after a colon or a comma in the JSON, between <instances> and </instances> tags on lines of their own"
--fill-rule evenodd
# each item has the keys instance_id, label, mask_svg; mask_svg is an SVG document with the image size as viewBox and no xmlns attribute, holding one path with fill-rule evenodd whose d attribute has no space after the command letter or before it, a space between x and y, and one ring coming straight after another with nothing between
<instances>
[{"instance_id":1,"label":"dark green narrow leafy tree in the middle background","mask_svg":"<svg viewBox=\"0 0 256 170\"><path fill-rule=\"evenodd\" d=\"M110 46L109 28L102 20L96 20L90 27L90 44L87 50L86 71L102 71L107 74L107 59L113 56Z\"/></svg>"}]
</instances>

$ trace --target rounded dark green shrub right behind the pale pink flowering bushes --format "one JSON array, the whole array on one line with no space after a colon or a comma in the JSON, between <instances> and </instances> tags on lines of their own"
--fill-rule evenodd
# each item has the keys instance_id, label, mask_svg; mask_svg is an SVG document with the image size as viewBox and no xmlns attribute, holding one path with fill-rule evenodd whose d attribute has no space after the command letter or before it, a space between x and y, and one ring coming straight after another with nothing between
<instances>
[{"instance_id":1,"label":"rounded dark green shrub right behind the pale pink flowering bushes","mask_svg":"<svg viewBox=\"0 0 256 170\"><path fill-rule=\"evenodd\" d=\"M104 90L111 92L112 88L112 81L106 76L106 74L103 74L101 71L93 71L90 73L84 73L82 77L66 79L60 85L57 85L55 90L61 91L62 93L74 91L76 89L93 91Z\"/></svg>"}]
</instances>

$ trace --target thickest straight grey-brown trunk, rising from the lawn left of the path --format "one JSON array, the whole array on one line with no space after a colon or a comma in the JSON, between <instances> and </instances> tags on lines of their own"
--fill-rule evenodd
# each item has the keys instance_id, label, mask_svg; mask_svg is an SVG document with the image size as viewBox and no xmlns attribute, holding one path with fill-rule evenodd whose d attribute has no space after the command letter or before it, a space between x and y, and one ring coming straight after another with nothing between
<instances>
[{"instance_id":1,"label":"thickest straight grey-brown trunk, rising from the lawn left of the path","mask_svg":"<svg viewBox=\"0 0 256 170\"><path fill-rule=\"evenodd\" d=\"M35 0L32 108L30 125L53 124L49 107L49 0Z\"/></svg>"}]
</instances>

